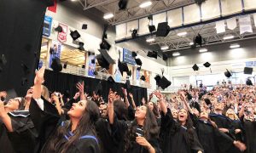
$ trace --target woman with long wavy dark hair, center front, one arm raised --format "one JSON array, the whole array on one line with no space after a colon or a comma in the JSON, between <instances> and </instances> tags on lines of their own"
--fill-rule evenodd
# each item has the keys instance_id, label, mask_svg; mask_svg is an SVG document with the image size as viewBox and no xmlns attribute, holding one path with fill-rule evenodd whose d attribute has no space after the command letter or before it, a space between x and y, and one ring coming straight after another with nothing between
<instances>
[{"instance_id":1,"label":"woman with long wavy dark hair, center front, one arm raised","mask_svg":"<svg viewBox=\"0 0 256 153\"><path fill-rule=\"evenodd\" d=\"M108 117L113 133L122 138L119 139L120 143L125 144L125 149L120 152L159 153L159 128L154 113L147 106L139 106L135 112L135 120L128 125L124 120L119 120L114 116L113 97L113 93L109 94Z\"/></svg>"}]
</instances>

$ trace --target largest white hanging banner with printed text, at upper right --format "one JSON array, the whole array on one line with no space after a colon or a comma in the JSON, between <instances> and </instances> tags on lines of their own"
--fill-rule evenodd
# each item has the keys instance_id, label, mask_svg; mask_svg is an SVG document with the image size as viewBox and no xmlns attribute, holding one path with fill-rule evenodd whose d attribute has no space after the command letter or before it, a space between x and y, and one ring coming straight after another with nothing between
<instances>
[{"instance_id":1,"label":"largest white hanging banner with printed text, at upper right","mask_svg":"<svg viewBox=\"0 0 256 153\"><path fill-rule=\"evenodd\" d=\"M245 32L253 32L250 15L239 17L240 35Z\"/></svg>"}]
</instances>

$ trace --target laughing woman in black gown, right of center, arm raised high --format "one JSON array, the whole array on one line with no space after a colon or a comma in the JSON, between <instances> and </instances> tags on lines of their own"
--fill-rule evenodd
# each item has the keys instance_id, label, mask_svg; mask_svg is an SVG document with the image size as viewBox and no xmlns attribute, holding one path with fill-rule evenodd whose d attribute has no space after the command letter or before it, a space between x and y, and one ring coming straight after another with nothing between
<instances>
[{"instance_id":1,"label":"laughing woman in black gown, right of center, arm raised high","mask_svg":"<svg viewBox=\"0 0 256 153\"><path fill-rule=\"evenodd\" d=\"M166 103L160 92L154 93L160 101L161 127L160 146L163 153L191 153L203 152L202 146L195 133L189 112L181 109L177 115L177 122L172 117L172 112L167 109Z\"/></svg>"}]
</instances>

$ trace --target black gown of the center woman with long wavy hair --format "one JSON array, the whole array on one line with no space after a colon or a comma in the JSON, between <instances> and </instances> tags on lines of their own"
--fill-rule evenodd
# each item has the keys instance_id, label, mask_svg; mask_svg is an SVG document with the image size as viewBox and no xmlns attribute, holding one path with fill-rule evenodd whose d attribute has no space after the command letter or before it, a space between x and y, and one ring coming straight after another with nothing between
<instances>
[{"instance_id":1,"label":"black gown of the center woman with long wavy hair","mask_svg":"<svg viewBox=\"0 0 256 153\"><path fill-rule=\"evenodd\" d=\"M119 140L119 152L126 153L148 153L148 150L142 145L137 144L135 139L130 139L132 146L125 151L125 134L128 128L131 128L132 122L128 125L124 120L119 120L114 117L112 126L113 139ZM103 142L104 143L104 142ZM154 147L156 153L160 153L160 144L157 138L152 138L148 140L148 143Z\"/></svg>"}]
</instances>

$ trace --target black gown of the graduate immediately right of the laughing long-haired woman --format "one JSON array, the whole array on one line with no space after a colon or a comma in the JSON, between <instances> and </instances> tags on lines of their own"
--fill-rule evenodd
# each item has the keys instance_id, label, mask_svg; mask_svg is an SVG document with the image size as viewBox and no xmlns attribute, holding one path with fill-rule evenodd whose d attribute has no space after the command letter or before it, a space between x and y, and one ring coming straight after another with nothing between
<instances>
[{"instance_id":1,"label":"black gown of the graduate immediately right of the laughing long-haired woman","mask_svg":"<svg viewBox=\"0 0 256 153\"><path fill-rule=\"evenodd\" d=\"M195 115L192 116L195 130L205 153L225 153L233 145L233 139L227 134L219 132L218 128L213 127L211 122L201 121Z\"/></svg>"}]
</instances>

